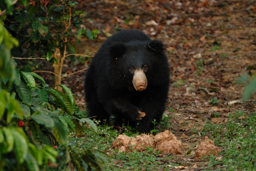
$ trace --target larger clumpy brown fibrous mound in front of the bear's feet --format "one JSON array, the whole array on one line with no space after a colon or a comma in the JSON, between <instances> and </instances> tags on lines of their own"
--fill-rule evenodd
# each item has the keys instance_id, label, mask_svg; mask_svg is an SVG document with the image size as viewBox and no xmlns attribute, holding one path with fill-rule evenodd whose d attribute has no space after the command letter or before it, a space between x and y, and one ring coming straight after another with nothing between
<instances>
[{"instance_id":1,"label":"larger clumpy brown fibrous mound in front of the bear's feet","mask_svg":"<svg viewBox=\"0 0 256 171\"><path fill-rule=\"evenodd\" d=\"M151 147L155 150L160 150L162 153L173 153L182 154L183 146L180 141L170 132L166 130L156 134L154 137L151 135L141 134L133 137L126 135L119 135L112 143L114 149L119 151L133 151L138 150L139 152L147 151L146 147Z\"/></svg>"}]
</instances>

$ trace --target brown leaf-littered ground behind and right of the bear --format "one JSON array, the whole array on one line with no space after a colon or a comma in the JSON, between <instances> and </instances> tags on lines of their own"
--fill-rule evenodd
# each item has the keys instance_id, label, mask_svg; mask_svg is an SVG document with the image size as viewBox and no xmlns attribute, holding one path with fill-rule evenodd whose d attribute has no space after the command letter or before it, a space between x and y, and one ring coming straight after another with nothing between
<instances>
[{"instance_id":1,"label":"brown leaf-littered ground behind and right of the bear","mask_svg":"<svg viewBox=\"0 0 256 171\"><path fill-rule=\"evenodd\" d=\"M123 29L139 29L164 42L172 78L167 106L175 111L170 113L166 108L165 113L172 115L172 133L183 142L185 152L195 149L193 145L202 138L192 130L202 130L207 120L225 123L228 112L254 111L255 97L243 103L243 86L236 80L243 73L255 72L253 67L245 71L248 66L256 66L255 0L77 2L78 11L88 12L84 27L101 32L98 41L86 41L78 47L81 53L98 49L108 36ZM79 65L76 70L86 66ZM83 74L63 80L64 85L73 85L72 92L81 106L83 85L77 80L83 80ZM213 98L218 99L215 105L209 102ZM229 101L234 101L232 107ZM217 112L220 116L213 117ZM205 160L188 157L172 162L205 165Z\"/></svg>"}]
</instances>

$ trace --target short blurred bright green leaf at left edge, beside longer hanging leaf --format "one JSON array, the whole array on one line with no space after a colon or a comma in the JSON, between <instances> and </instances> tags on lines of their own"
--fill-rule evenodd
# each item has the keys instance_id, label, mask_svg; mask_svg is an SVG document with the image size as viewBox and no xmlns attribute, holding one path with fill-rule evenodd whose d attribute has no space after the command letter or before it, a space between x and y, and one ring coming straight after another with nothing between
<instances>
[{"instance_id":1,"label":"short blurred bright green leaf at left edge, beside longer hanging leaf","mask_svg":"<svg viewBox=\"0 0 256 171\"><path fill-rule=\"evenodd\" d=\"M3 153L7 153L10 152L13 148L14 145L14 138L12 135L12 131L10 130L10 128L7 127L2 127L2 130L4 132L4 148L2 149Z\"/></svg>"}]
</instances>

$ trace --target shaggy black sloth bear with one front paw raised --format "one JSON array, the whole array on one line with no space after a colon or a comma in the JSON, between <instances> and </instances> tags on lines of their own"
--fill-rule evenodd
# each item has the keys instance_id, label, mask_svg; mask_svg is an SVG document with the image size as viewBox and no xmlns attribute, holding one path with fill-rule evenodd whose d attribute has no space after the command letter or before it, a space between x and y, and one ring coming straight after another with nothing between
<instances>
[{"instance_id":1,"label":"shaggy black sloth bear with one front paw raised","mask_svg":"<svg viewBox=\"0 0 256 171\"><path fill-rule=\"evenodd\" d=\"M165 110L170 74L163 43L138 30L124 30L109 37L92 58L85 76L88 117L139 132L154 129Z\"/></svg>"}]
</instances>

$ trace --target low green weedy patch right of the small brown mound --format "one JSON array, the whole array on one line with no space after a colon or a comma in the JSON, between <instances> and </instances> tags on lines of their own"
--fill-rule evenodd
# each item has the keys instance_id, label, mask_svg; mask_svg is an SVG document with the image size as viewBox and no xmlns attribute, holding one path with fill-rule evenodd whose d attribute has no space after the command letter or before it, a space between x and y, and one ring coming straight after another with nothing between
<instances>
[{"instance_id":1,"label":"low green weedy patch right of the small brown mound","mask_svg":"<svg viewBox=\"0 0 256 171\"><path fill-rule=\"evenodd\" d=\"M220 160L209 157L208 168L214 170L256 170L256 112L228 113L225 124L206 123L202 135L210 134L223 151Z\"/></svg>"}]
</instances>

